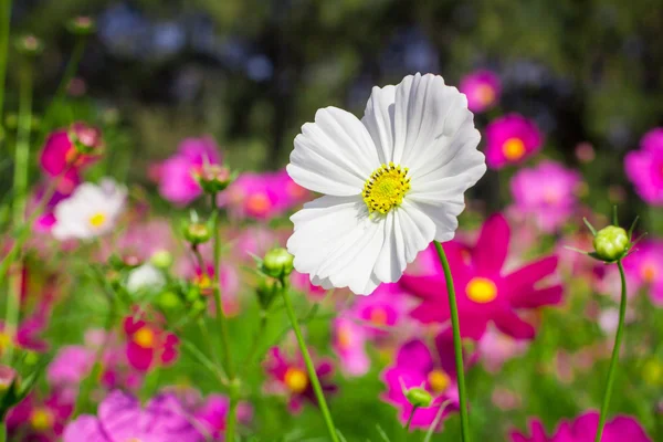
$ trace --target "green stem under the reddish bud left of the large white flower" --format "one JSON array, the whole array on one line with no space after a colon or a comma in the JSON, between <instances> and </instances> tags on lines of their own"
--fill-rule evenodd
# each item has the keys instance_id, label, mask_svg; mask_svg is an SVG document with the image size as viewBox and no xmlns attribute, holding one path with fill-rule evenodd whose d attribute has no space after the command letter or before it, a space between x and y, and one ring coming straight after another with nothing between
<instances>
[{"instance_id":1,"label":"green stem under the reddish bud left of the large white flower","mask_svg":"<svg viewBox=\"0 0 663 442\"><path fill-rule=\"evenodd\" d=\"M212 210L217 210L217 196L212 194L211 197ZM221 334L221 350L223 351L223 362L225 365L224 369L230 381L230 412L228 415L228 423L225 427L225 441L234 442L236 407L239 401L239 382L235 378L234 367L232 365L232 357L230 354L230 337L228 333L228 320L225 318L225 314L223 313L223 304L221 302L221 282L219 278L219 274L221 273L221 235L219 232L218 213L213 213L212 215L212 235L214 249L214 275L212 278L212 291L214 293L214 304L217 306L217 325L219 327L219 333ZM235 410L235 412L232 412L233 409Z\"/></svg>"}]
</instances>

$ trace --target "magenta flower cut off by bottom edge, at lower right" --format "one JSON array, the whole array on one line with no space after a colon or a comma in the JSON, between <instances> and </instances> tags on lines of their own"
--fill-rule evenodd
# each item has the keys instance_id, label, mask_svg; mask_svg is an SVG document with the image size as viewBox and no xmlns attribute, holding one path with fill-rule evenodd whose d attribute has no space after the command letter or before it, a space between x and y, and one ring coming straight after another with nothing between
<instances>
[{"instance_id":1,"label":"magenta flower cut off by bottom edge, at lower right","mask_svg":"<svg viewBox=\"0 0 663 442\"><path fill-rule=\"evenodd\" d=\"M589 411L573 422L562 421L551 436L546 435L544 425L538 420L529 422L530 436L519 431L511 433L512 442L592 442L599 427L599 413ZM603 428L601 442L652 442L644 430L633 418L617 417Z\"/></svg>"}]
</instances>

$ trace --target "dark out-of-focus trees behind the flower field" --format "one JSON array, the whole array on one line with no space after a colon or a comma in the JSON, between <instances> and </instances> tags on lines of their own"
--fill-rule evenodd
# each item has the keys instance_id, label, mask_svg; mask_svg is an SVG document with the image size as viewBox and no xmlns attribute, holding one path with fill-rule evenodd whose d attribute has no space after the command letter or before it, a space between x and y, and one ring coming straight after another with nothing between
<instances>
[{"instance_id":1,"label":"dark out-of-focus trees behind the flower field","mask_svg":"<svg viewBox=\"0 0 663 442\"><path fill-rule=\"evenodd\" d=\"M96 19L69 86L75 99L40 124L45 134L74 115L114 126L110 175L147 181L151 162L182 137L201 134L217 138L234 167L277 169L319 107L360 115L373 85L414 72L457 85L487 69L501 77L503 94L497 108L477 115L480 126L505 112L527 115L546 134L544 154L585 172L591 200L606 204L594 209L624 200L627 211L643 208L622 187L621 158L663 124L663 6L656 0L13 3L12 34L46 42L35 61L38 116L76 50L64 23L82 14ZM11 60L6 119L17 109L21 73ZM589 166L575 155L586 143L597 154ZM498 180L483 182L480 194L498 204L491 198Z\"/></svg>"}]
</instances>

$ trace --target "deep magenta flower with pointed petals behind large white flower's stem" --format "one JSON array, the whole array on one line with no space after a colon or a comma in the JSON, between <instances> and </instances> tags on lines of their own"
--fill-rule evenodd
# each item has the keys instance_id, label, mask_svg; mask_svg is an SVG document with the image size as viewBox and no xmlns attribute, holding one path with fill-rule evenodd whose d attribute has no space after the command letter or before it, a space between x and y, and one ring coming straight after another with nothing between
<instances>
[{"instance_id":1,"label":"deep magenta flower with pointed petals behind large white flower's stem","mask_svg":"<svg viewBox=\"0 0 663 442\"><path fill-rule=\"evenodd\" d=\"M488 218L473 248L457 242L444 243L453 274L459 304L461 334L478 340L488 324L505 335L532 339L535 328L519 312L537 309L561 301L562 286L543 285L555 273L556 256L546 256L514 272L504 272L511 229L502 214ZM444 275L441 266L428 276L403 275L401 284L422 303L411 315L422 323L445 323L450 318Z\"/></svg>"}]
</instances>

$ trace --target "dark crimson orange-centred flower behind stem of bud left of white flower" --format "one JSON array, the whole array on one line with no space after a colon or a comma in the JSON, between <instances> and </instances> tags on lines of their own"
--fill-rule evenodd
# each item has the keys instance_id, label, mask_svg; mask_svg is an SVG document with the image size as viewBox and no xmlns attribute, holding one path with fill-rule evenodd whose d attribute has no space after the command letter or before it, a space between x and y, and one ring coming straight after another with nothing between
<instances>
[{"instance_id":1,"label":"dark crimson orange-centred flower behind stem of bud left of white flower","mask_svg":"<svg viewBox=\"0 0 663 442\"><path fill-rule=\"evenodd\" d=\"M315 371L325 396L335 392L337 387L330 380L334 376L332 361L319 359L314 364L316 365ZM297 352L296 357L291 358L284 355L278 347L272 347L265 359L264 367L271 377L267 389L287 397L288 410L291 412L298 413L305 401L317 404L317 399L306 371L306 365L301 354Z\"/></svg>"}]
</instances>

